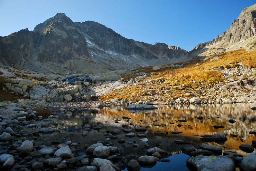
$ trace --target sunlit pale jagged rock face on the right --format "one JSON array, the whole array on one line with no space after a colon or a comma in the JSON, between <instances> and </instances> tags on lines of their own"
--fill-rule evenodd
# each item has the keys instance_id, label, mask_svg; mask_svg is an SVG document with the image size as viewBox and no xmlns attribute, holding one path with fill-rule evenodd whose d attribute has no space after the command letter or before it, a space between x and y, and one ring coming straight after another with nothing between
<instances>
[{"instance_id":1,"label":"sunlit pale jagged rock face on the right","mask_svg":"<svg viewBox=\"0 0 256 171\"><path fill-rule=\"evenodd\" d=\"M198 44L188 56L209 56L215 55L214 51L220 53L240 48L256 50L255 40L256 4L245 8L227 31L218 35L213 41Z\"/></svg>"}]
</instances>

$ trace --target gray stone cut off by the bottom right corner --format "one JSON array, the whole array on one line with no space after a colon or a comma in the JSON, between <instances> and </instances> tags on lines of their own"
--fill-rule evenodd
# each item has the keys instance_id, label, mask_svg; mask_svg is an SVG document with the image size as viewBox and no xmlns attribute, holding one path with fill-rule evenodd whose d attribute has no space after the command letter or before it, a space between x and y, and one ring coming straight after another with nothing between
<instances>
[{"instance_id":1,"label":"gray stone cut off by the bottom right corner","mask_svg":"<svg viewBox=\"0 0 256 171\"><path fill-rule=\"evenodd\" d=\"M241 162L240 168L244 171L256 170L256 152L248 154Z\"/></svg>"}]
</instances>

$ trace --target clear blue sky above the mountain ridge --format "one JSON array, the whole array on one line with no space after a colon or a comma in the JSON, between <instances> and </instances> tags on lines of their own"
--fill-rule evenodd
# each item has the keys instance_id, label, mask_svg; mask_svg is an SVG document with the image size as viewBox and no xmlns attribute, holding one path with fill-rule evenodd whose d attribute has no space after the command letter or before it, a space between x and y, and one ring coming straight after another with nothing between
<instances>
[{"instance_id":1,"label":"clear blue sky above the mountain ridge","mask_svg":"<svg viewBox=\"0 0 256 171\"><path fill-rule=\"evenodd\" d=\"M226 31L256 0L0 0L0 36L34 27L64 12L97 21L128 39L191 50Z\"/></svg>"}]
</instances>

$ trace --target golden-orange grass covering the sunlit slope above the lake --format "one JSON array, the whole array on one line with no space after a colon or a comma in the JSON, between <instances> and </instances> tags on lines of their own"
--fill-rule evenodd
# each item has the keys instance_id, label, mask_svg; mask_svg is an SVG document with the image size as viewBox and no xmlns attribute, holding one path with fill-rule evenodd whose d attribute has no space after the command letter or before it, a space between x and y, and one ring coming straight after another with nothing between
<instances>
[{"instance_id":1,"label":"golden-orange grass covering the sunlit slope above the lake","mask_svg":"<svg viewBox=\"0 0 256 171\"><path fill-rule=\"evenodd\" d=\"M239 49L235 51L225 52L220 54L219 56L214 56L212 58L219 57L220 59L217 61L211 62L209 58L204 63L200 65L196 65L196 63L200 61L190 61L189 63L182 63L182 68L169 68L167 66L163 66L160 70L152 70L152 66L150 67L141 67L138 69L134 69L134 71L138 70L138 72L156 72L156 76L145 78L144 81L137 83L136 85L129 85L123 89L115 90L107 95L103 95L100 97L101 100L109 100L112 98L118 99L141 99L143 96L149 96L149 92L158 92L159 97L161 98L178 98L185 97L184 88L187 88L188 92L190 88L208 88L217 84L219 82L223 82L226 78L219 71L211 70L213 68L234 68L238 66L237 63L242 62L244 66L254 68L256 67L256 50L246 52L245 49ZM181 64L181 63L179 63ZM256 73L254 73L256 76ZM129 78L130 76L122 76ZM159 77L163 77L164 81L155 81L148 85L145 85L149 80L156 80ZM165 93L168 90L169 93ZM144 97L145 98L145 97Z\"/></svg>"}]
</instances>

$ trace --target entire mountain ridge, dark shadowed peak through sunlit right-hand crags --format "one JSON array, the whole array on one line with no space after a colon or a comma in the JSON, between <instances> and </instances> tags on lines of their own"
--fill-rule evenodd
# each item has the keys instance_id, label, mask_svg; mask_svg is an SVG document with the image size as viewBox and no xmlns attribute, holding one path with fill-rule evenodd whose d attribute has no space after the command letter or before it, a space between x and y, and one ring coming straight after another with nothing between
<instances>
[{"instance_id":1,"label":"entire mountain ridge, dark shadowed peak through sunlit right-hand crags","mask_svg":"<svg viewBox=\"0 0 256 171\"><path fill-rule=\"evenodd\" d=\"M73 22L57 13L33 31L0 37L0 63L36 71L96 73L183 62L240 48L254 50L255 40L256 4L245 8L223 34L189 52L127 39L98 22Z\"/></svg>"}]
</instances>

